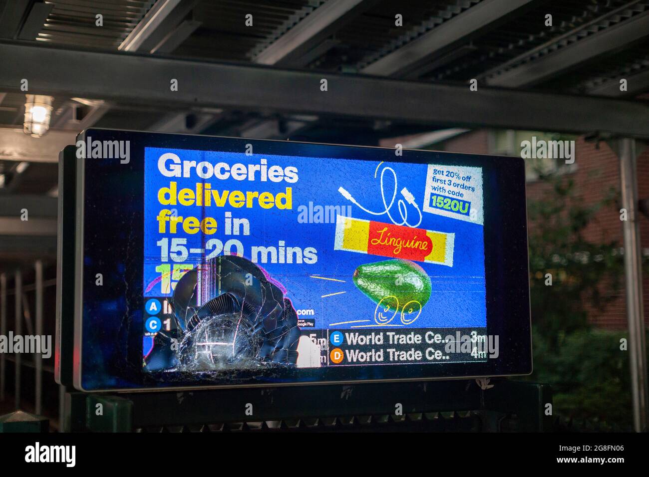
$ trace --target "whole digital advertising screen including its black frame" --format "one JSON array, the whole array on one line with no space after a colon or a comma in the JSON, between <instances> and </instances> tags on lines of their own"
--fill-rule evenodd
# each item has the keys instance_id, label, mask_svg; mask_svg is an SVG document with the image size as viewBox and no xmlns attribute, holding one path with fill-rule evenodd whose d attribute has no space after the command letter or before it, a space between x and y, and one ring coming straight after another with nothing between
<instances>
[{"instance_id":1,"label":"whole digital advertising screen including its black frame","mask_svg":"<svg viewBox=\"0 0 649 477\"><path fill-rule=\"evenodd\" d=\"M80 138L78 389L530 372L522 161Z\"/></svg>"}]
</instances>

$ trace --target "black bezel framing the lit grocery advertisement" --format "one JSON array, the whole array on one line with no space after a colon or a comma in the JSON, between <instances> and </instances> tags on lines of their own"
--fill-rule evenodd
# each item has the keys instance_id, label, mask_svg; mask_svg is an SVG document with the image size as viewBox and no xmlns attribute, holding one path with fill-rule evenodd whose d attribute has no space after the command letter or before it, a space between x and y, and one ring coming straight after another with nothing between
<instances>
[{"instance_id":1,"label":"black bezel framing the lit grocery advertisement","mask_svg":"<svg viewBox=\"0 0 649 477\"><path fill-rule=\"evenodd\" d=\"M234 385L314 384L358 380L428 380L511 376L532 372L530 298L524 162L520 158L380 147L326 145L89 129L79 135L99 141L130 141L130 158L82 160L77 184L79 300L75 315L75 387L86 391L171 389ZM487 334L498 335L500 354L480 363L426 363L286 369L282 373L241 371L227 382L213 376L142 371L142 267L144 148L169 147L254 155L330 157L418 164L483 167ZM107 196L110 194L110 196ZM110 200L108 200L110 197ZM82 234L82 236L81 236ZM139 237L139 239L137 239ZM130 239L129 239L130 238ZM80 255L80 256L79 256ZM138 257L140 260L138 262ZM123 260L121 260L123 258ZM96 286L96 273L103 285ZM97 272L99 273L99 272ZM133 276L125 280L125 276ZM78 287L79 287L78 286ZM138 299L139 297L139 299ZM106 303L111 304L106 310ZM125 321L127 310L134 310ZM140 310L140 312L138 312ZM126 349L126 352L119 350ZM407 369L404 369L407 368ZM306 373L305 373L306 372ZM309 374L305 376L304 374Z\"/></svg>"}]
</instances>

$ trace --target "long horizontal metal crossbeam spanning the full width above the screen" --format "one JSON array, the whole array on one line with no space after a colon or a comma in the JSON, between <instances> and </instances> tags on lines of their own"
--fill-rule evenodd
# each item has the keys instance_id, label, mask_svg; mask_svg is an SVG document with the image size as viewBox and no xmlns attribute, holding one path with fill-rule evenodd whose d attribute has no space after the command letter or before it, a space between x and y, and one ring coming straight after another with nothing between
<instances>
[{"instance_id":1,"label":"long horizontal metal crossbeam spanning the full width above the screen","mask_svg":"<svg viewBox=\"0 0 649 477\"><path fill-rule=\"evenodd\" d=\"M649 137L649 107L616 99L431 84L0 42L0 90L407 123ZM321 79L328 80L323 92ZM171 91L170 80L178 80ZM606 112L603 114L602 112ZM47 137L47 136L46 136Z\"/></svg>"}]
</instances>

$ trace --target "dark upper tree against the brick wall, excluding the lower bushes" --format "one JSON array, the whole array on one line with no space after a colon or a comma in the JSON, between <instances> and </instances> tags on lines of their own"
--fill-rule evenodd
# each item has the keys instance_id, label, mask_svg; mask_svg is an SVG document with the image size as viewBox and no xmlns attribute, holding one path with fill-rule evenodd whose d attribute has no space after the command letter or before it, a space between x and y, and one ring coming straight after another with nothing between
<instances>
[{"instance_id":1,"label":"dark upper tree against the brick wall, excluding the lower bushes","mask_svg":"<svg viewBox=\"0 0 649 477\"><path fill-rule=\"evenodd\" d=\"M587 225L615 201L609 191L595 204L575 197L567 177L544 177L545 193L528 201L532 324L552 350L561 337L589 327L585 303L603 309L620 287L622 258L615 241L593 243ZM547 274L552 286L546 285Z\"/></svg>"}]
</instances>

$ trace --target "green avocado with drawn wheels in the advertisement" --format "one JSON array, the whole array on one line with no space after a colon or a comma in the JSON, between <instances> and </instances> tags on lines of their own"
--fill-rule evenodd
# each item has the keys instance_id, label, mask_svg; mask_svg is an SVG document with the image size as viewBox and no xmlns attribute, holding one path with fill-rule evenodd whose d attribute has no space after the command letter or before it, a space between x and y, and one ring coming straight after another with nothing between
<instances>
[{"instance_id":1,"label":"green avocado with drawn wheels in the advertisement","mask_svg":"<svg viewBox=\"0 0 649 477\"><path fill-rule=\"evenodd\" d=\"M410 260L384 260L383 262L359 265L354 271L354 285L374 303L397 310L415 301L424 306L430 299L432 286L430 277L417 263ZM386 297L396 297L385 299ZM385 300L384 300L385 299Z\"/></svg>"}]
</instances>

